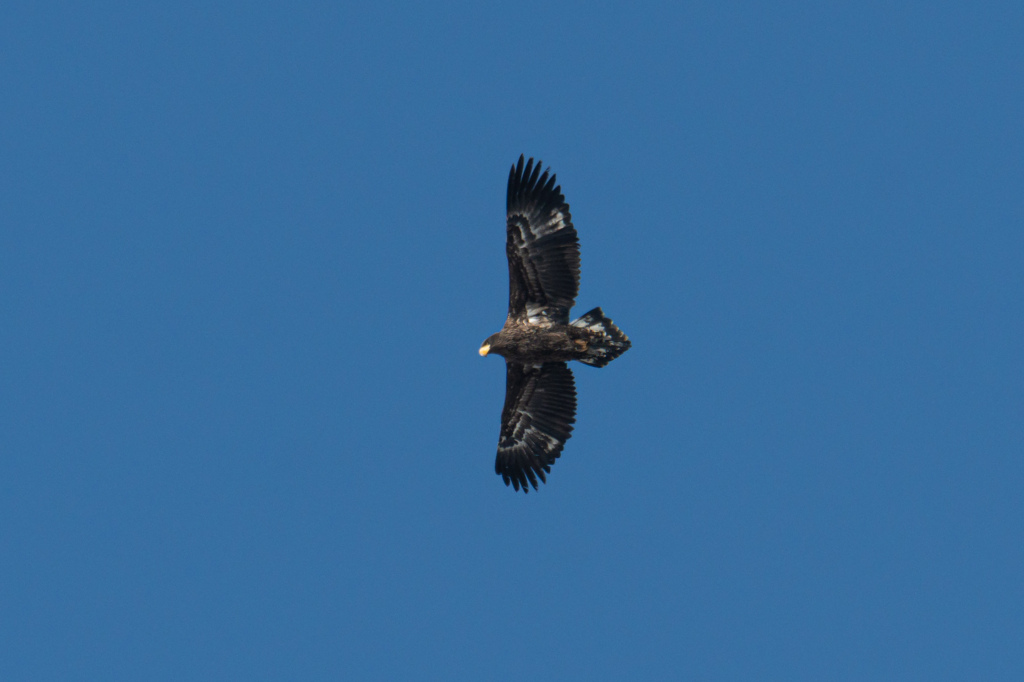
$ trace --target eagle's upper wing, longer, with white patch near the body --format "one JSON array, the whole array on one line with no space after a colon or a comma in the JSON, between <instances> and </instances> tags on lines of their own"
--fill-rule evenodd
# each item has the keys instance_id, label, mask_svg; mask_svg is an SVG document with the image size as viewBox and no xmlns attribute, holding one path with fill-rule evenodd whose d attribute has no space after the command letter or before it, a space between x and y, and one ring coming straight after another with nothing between
<instances>
[{"instance_id":1,"label":"eagle's upper wing, longer, with white patch near the body","mask_svg":"<svg viewBox=\"0 0 1024 682\"><path fill-rule=\"evenodd\" d=\"M550 168L523 158L509 171L509 319L568 324L580 291L580 242Z\"/></svg>"}]
</instances>

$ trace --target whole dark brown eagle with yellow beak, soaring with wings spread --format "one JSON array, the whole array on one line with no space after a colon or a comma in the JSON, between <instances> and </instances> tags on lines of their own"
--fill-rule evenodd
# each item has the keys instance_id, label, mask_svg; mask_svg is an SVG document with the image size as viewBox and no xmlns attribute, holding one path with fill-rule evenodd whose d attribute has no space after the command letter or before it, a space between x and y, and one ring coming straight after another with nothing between
<instances>
[{"instance_id":1,"label":"whole dark brown eagle with yellow beak, soaring with wings spread","mask_svg":"<svg viewBox=\"0 0 1024 682\"><path fill-rule=\"evenodd\" d=\"M569 322L580 291L580 241L569 205L544 162L519 157L509 171L505 252L509 313L480 346L505 358L505 407L495 472L529 493L562 453L575 423L575 382L568 360L604 367L630 340L594 308Z\"/></svg>"}]
</instances>

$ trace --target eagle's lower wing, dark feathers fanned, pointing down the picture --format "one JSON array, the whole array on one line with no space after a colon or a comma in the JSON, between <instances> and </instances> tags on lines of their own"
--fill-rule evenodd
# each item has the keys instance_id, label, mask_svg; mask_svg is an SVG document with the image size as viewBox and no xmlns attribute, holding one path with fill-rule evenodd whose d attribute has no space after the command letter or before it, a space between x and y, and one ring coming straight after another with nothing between
<instances>
[{"instance_id":1,"label":"eagle's lower wing, dark feathers fanned, pointing down the picture","mask_svg":"<svg viewBox=\"0 0 1024 682\"><path fill-rule=\"evenodd\" d=\"M575 383L565 363L506 363L505 408L495 472L528 493L562 453L575 422Z\"/></svg>"}]
</instances>

